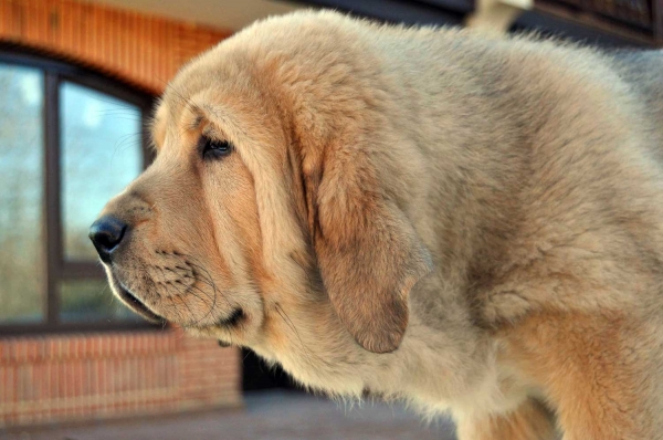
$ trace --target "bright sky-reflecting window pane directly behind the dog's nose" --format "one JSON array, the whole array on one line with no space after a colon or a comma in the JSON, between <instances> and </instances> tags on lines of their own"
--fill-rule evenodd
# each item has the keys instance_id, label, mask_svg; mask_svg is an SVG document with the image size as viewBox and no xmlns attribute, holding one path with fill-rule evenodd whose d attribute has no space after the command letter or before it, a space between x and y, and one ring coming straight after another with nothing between
<instances>
[{"instance_id":1,"label":"bright sky-reflecting window pane directly behind the dog's nose","mask_svg":"<svg viewBox=\"0 0 663 440\"><path fill-rule=\"evenodd\" d=\"M143 168L140 109L63 83L61 112L64 256L96 260L87 229Z\"/></svg>"}]
</instances>

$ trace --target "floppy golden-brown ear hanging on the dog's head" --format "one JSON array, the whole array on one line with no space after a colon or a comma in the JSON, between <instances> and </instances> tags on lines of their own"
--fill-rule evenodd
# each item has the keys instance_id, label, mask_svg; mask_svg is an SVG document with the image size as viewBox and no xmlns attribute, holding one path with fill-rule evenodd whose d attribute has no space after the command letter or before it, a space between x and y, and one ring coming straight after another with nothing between
<instances>
[{"instance_id":1,"label":"floppy golden-brown ear hanging on the dog's head","mask_svg":"<svg viewBox=\"0 0 663 440\"><path fill-rule=\"evenodd\" d=\"M304 166L309 228L327 294L364 348L389 353L408 325L408 295L430 255L357 148L329 148ZM311 163L309 163L311 164Z\"/></svg>"}]
</instances>

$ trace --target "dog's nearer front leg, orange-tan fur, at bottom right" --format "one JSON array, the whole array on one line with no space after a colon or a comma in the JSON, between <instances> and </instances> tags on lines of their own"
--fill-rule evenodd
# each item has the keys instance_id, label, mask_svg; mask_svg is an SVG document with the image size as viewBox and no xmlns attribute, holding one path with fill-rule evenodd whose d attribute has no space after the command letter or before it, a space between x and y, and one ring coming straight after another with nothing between
<instances>
[{"instance_id":1,"label":"dog's nearer front leg, orange-tan fur, at bottom right","mask_svg":"<svg viewBox=\"0 0 663 440\"><path fill-rule=\"evenodd\" d=\"M541 314L508 331L505 360L540 385L565 440L661 438L649 407L655 336L635 322L607 313Z\"/></svg>"}]
</instances>

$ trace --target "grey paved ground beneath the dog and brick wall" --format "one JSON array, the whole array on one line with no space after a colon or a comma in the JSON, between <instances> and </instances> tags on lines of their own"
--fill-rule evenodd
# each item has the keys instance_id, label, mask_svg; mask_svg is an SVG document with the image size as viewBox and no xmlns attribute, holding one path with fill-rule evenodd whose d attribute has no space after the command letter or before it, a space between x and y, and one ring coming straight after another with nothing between
<instances>
[{"instance_id":1,"label":"grey paved ground beneath the dog and brick wall","mask_svg":"<svg viewBox=\"0 0 663 440\"><path fill-rule=\"evenodd\" d=\"M0 434L0 440L454 440L453 426L430 426L402 407L346 408L304 394L246 396L246 408L148 421Z\"/></svg>"}]
</instances>

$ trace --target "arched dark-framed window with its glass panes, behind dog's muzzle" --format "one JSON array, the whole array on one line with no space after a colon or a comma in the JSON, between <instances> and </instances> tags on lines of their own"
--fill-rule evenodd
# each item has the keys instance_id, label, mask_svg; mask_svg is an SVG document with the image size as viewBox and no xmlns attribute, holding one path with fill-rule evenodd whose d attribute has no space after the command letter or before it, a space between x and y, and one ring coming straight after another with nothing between
<instances>
[{"instance_id":1,"label":"arched dark-framed window with its glass panes, behind dog's muzzle","mask_svg":"<svg viewBox=\"0 0 663 440\"><path fill-rule=\"evenodd\" d=\"M0 48L0 333L145 326L110 294L87 239L149 161L151 97Z\"/></svg>"}]
</instances>

